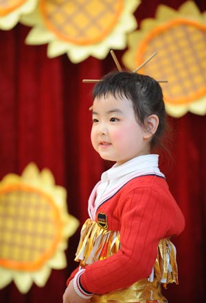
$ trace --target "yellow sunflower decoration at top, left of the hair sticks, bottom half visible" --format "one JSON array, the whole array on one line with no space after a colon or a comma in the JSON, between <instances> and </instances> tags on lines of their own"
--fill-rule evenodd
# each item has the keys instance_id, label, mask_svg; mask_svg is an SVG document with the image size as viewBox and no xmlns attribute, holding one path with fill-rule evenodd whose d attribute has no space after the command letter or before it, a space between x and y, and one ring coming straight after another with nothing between
<instances>
[{"instance_id":1,"label":"yellow sunflower decoration at top, left of the hair sticks, bottom half visible","mask_svg":"<svg viewBox=\"0 0 206 303\"><path fill-rule=\"evenodd\" d=\"M26 43L49 43L49 58L67 53L73 63L89 56L105 58L124 49L126 34L137 27L133 12L140 0L39 0L38 8L21 18L32 26Z\"/></svg>"}]
</instances>

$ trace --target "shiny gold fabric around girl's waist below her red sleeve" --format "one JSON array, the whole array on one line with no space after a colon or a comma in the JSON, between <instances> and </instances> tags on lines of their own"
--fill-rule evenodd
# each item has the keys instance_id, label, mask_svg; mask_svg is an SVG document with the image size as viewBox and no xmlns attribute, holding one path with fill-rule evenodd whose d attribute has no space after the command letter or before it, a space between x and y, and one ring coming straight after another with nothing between
<instances>
[{"instance_id":1,"label":"shiny gold fabric around girl's waist below her red sleeve","mask_svg":"<svg viewBox=\"0 0 206 303\"><path fill-rule=\"evenodd\" d=\"M155 280L153 282L148 279L139 280L126 289L111 291L104 295L93 295L90 303L108 303L108 302L153 302L157 300L159 303L166 303L168 300L161 293L161 283Z\"/></svg>"}]
</instances>

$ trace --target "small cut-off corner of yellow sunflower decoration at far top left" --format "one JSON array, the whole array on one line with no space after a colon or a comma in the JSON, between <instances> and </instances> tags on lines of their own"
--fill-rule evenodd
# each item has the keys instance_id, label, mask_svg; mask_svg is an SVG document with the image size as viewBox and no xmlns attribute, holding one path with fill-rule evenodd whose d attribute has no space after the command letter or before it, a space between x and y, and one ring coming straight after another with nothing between
<instances>
[{"instance_id":1,"label":"small cut-off corner of yellow sunflower decoration at far top left","mask_svg":"<svg viewBox=\"0 0 206 303\"><path fill-rule=\"evenodd\" d=\"M22 14L36 8L38 0L3 0L0 2L0 29L12 29Z\"/></svg>"}]
</instances>

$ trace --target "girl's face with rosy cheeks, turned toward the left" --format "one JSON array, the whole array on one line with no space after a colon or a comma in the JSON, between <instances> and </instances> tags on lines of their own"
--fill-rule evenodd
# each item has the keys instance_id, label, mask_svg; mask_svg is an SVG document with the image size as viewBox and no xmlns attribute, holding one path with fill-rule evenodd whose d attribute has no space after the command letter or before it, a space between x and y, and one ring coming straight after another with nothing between
<instances>
[{"instance_id":1,"label":"girl's face with rosy cheeks, turned toward the left","mask_svg":"<svg viewBox=\"0 0 206 303\"><path fill-rule=\"evenodd\" d=\"M108 94L93 102L91 143L101 158L118 165L150 154L146 130L135 119L133 102Z\"/></svg>"}]
</instances>

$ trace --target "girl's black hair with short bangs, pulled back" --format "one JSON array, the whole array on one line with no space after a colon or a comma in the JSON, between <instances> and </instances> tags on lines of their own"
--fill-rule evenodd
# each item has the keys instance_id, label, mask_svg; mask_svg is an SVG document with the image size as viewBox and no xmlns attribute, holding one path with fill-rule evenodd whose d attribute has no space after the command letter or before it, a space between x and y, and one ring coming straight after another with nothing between
<instances>
[{"instance_id":1,"label":"girl's black hair with short bangs, pulled back","mask_svg":"<svg viewBox=\"0 0 206 303\"><path fill-rule=\"evenodd\" d=\"M156 114L159 118L157 131L152 136L151 148L161 145L161 135L165 129L165 104L159 82L148 75L130 71L113 71L102 78L93 88L95 97L126 97L133 102L135 117L140 125L146 125L146 118Z\"/></svg>"}]
</instances>

